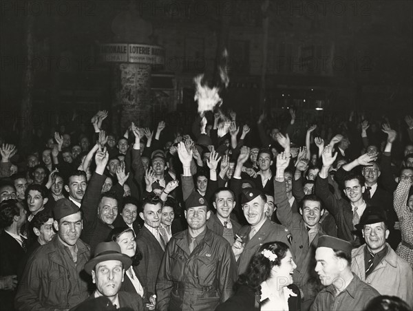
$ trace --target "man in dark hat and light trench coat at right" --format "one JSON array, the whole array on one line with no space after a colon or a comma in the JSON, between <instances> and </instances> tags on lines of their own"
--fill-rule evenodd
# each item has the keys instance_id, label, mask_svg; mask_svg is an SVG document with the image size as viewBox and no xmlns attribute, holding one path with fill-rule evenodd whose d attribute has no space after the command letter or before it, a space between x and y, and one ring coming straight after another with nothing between
<instances>
[{"instance_id":1,"label":"man in dark hat and light trench coat at right","mask_svg":"<svg viewBox=\"0 0 413 311\"><path fill-rule=\"evenodd\" d=\"M380 294L400 297L412 307L412 268L386 243L389 236L387 220L383 208L366 208L357 225L366 244L352 251L351 270Z\"/></svg>"}]
</instances>

